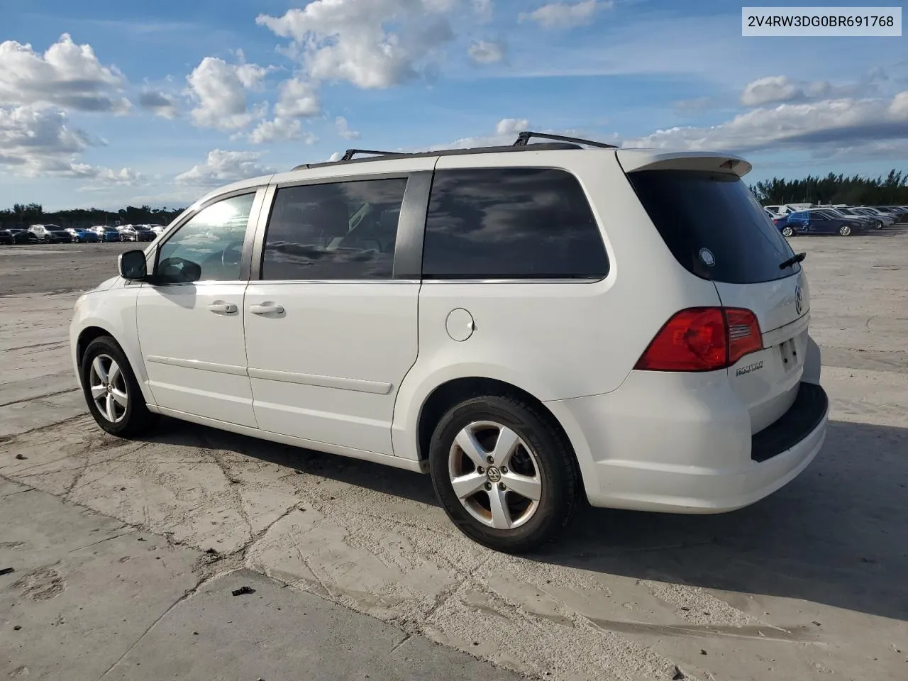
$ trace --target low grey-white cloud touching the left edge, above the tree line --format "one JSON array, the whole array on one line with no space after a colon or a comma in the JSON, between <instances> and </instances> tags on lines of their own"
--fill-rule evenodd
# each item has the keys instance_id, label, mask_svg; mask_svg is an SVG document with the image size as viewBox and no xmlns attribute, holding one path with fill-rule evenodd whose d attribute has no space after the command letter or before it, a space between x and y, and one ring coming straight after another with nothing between
<instances>
[{"instance_id":1,"label":"low grey-white cloud touching the left edge, above the tree line","mask_svg":"<svg viewBox=\"0 0 908 681\"><path fill-rule=\"evenodd\" d=\"M25 177L74 177L101 183L143 180L129 168L119 171L78 163L78 155L100 143L66 123L66 114L47 106L0 108L0 167Z\"/></svg>"}]
</instances>

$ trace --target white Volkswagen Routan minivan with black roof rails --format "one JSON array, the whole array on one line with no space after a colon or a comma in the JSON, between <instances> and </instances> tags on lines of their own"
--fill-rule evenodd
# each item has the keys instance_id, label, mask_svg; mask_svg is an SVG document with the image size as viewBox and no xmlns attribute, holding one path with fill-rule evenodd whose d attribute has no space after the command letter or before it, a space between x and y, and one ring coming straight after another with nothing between
<instances>
[{"instance_id":1,"label":"white Volkswagen Routan minivan with black roof rails","mask_svg":"<svg viewBox=\"0 0 908 681\"><path fill-rule=\"evenodd\" d=\"M538 133L369 154L211 192L76 301L103 429L163 414L429 472L508 552L584 496L716 513L814 458L804 255L749 163Z\"/></svg>"}]
</instances>

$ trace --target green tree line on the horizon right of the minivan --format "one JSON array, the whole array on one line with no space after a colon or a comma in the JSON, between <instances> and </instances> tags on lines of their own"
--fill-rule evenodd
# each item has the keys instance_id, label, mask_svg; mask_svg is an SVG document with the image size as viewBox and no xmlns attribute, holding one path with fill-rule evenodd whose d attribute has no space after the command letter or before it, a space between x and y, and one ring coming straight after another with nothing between
<instances>
[{"instance_id":1,"label":"green tree line on the horizon right of the minivan","mask_svg":"<svg viewBox=\"0 0 908 681\"><path fill-rule=\"evenodd\" d=\"M890 206L908 204L908 174L891 170L888 175L862 177L829 173L807 175L802 180L774 177L751 185L757 200L772 203L846 203L848 205Z\"/></svg>"}]
</instances>

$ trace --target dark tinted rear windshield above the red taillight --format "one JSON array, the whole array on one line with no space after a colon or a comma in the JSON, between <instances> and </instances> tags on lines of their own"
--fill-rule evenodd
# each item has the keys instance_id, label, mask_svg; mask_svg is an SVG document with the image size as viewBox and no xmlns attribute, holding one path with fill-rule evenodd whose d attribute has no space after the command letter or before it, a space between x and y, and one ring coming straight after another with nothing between
<instances>
[{"instance_id":1,"label":"dark tinted rear windshield above the red taillight","mask_svg":"<svg viewBox=\"0 0 908 681\"><path fill-rule=\"evenodd\" d=\"M775 281L794 252L754 194L731 173L640 171L627 178L666 245L688 271L726 283Z\"/></svg>"}]
</instances>

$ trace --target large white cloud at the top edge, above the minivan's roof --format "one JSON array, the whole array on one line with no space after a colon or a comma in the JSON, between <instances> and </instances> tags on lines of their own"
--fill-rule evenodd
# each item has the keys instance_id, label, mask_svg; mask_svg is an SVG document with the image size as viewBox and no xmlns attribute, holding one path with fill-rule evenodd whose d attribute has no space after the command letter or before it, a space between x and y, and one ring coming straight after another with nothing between
<instances>
[{"instance_id":1,"label":"large white cloud at the top edge, above the minivan's roof","mask_svg":"<svg viewBox=\"0 0 908 681\"><path fill-rule=\"evenodd\" d=\"M256 23L291 38L315 80L387 88L419 74L440 46L453 40L443 16L458 0L314 0ZM394 26L392 29L390 26Z\"/></svg>"}]
</instances>

